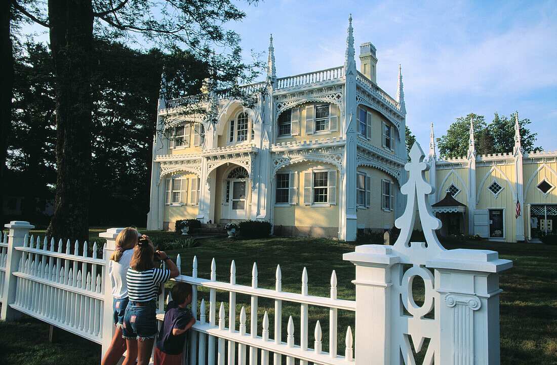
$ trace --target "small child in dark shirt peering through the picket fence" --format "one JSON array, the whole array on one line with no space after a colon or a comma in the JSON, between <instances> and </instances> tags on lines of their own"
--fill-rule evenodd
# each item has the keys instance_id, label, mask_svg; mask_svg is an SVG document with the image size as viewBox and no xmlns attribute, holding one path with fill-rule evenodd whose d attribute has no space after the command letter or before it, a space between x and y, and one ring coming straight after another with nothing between
<instances>
[{"instance_id":1,"label":"small child in dark shirt peering through the picket fence","mask_svg":"<svg viewBox=\"0 0 557 365\"><path fill-rule=\"evenodd\" d=\"M196 323L186 306L192 303L192 285L176 283L170 290L164 322L155 347L154 365L180 365L185 332Z\"/></svg>"}]
</instances>

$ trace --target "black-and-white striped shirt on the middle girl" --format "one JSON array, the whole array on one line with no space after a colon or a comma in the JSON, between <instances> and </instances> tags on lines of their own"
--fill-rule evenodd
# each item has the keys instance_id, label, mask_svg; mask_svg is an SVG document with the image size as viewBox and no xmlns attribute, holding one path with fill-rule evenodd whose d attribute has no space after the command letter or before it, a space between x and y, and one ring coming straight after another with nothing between
<instances>
[{"instance_id":1,"label":"black-and-white striped shirt on the middle girl","mask_svg":"<svg viewBox=\"0 0 557 365\"><path fill-rule=\"evenodd\" d=\"M128 269L126 281L131 301L149 301L157 299L158 284L166 283L170 279L170 270L149 269L135 271Z\"/></svg>"}]
</instances>

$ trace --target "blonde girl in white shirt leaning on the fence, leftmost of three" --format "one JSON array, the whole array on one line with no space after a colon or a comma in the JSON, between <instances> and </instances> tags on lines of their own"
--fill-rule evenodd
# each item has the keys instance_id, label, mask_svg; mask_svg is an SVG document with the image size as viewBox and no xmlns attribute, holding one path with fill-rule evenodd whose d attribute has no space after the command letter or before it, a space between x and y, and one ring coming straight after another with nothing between
<instances>
[{"instance_id":1,"label":"blonde girl in white shirt leaning on the fence, leftmost of three","mask_svg":"<svg viewBox=\"0 0 557 365\"><path fill-rule=\"evenodd\" d=\"M113 365L118 363L124 351L126 351L126 340L122 337L122 324L124 323L124 313L128 306L128 285L126 282L126 272L130 267L133 248L138 243L139 232L128 227L116 236L116 249L110 256L108 274L112 283L112 295L114 296L114 325L116 332L110 343L110 347L102 358L101 365Z\"/></svg>"}]
</instances>

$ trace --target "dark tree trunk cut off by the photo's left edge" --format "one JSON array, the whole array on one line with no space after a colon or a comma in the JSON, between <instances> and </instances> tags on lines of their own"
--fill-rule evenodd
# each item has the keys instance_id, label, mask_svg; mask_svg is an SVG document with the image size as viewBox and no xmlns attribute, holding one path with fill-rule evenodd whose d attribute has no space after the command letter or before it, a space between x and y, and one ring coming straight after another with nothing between
<instances>
[{"instance_id":1,"label":"dark tree trunk cut off by the photo's left edge","mask_svg":"<svg viewBox=\"0 0 557 365\"><path fill-rule=\"evenodd\" d=\"M9 22L12 18L12 0L0 1L0 225L4 227L4 196L6 189L6 156L8 135L12 126L13 51Z\"/></svg>"}]
</instances>

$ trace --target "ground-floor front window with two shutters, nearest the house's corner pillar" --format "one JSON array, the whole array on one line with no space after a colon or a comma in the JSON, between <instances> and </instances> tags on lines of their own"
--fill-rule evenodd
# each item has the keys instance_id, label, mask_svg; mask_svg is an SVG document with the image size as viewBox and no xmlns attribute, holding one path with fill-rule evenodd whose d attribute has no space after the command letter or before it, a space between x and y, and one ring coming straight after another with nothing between
<instances>
[{"instance_id":1,"label":"ground-floor front window with two shutters, nearest the house's corner pillar","mask_svg":"<svg viewBox=\"0 0 557 365\"><path fill-rule=\"evenodd\" d=\"M336 204L336 170L304 172L304 205Z\"/></svg>"}]
</instances>

